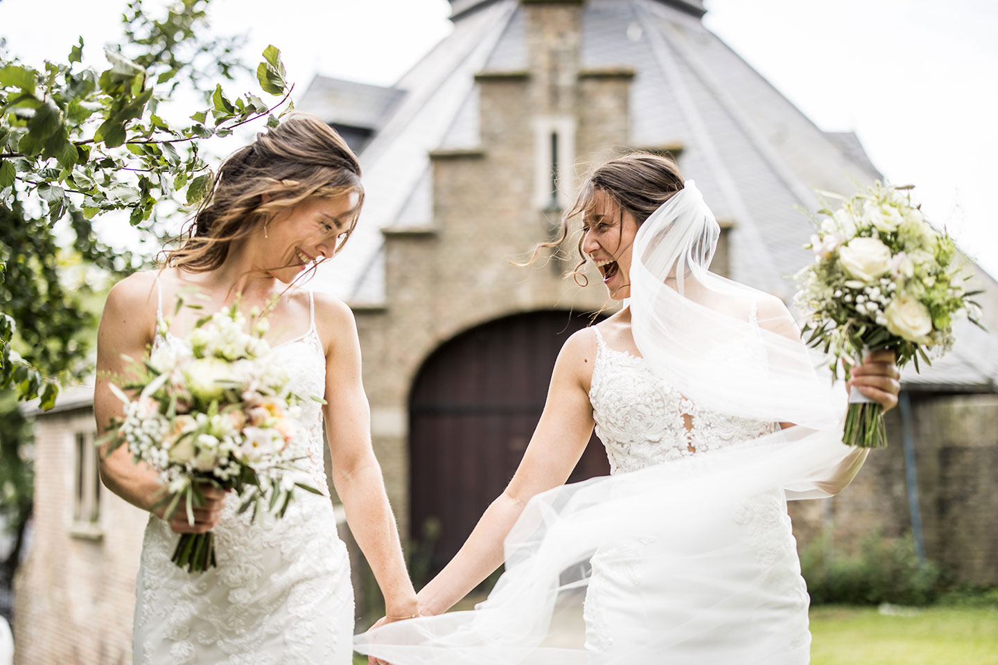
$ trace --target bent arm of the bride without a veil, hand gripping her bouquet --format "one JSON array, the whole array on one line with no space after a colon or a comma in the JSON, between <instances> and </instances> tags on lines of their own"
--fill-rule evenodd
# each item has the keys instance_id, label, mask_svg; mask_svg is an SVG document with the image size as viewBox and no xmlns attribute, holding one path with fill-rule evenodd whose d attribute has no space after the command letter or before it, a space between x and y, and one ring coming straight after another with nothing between
<instances>
[{"instance_id":1,"label":"bent arm of the bride without a veil, hand gripping her bouquet","mask_svg":"<svg viewBox=\"0 0 998 665\"><path fill-rule=\"evenodd\" d=\"M111 419L121 417L123 405L112 394L109 385L128 380L132 363L126 357L141 361L156 329L156 286L150 273L136 273L115 284L108 294L97 329L97 383L94 387L94 414L97 431L107 430ZM110 444L102 446L101 480L111 492L133 505L150 510L162 517L166 505L157 502L162 489L159 476L145 464L135 464L125 446L110 455ZM179 533L203 533L219 521L225 493L204 486L208 503L194 508L195 523L189 524L186 510L177 510L171 527Z\"/></svg>"}]
</instances>

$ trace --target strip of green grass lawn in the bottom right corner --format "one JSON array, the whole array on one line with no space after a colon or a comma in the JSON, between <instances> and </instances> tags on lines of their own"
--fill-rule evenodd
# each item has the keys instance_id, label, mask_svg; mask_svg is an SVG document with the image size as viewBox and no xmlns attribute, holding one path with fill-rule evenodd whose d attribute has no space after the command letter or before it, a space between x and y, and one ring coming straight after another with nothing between
<instances>
[{"instance_id":1,"label":"strip of green grass lawn in the bottom right corner","mask_svg":"<svg viewBox=\"0 0 998 665\"><path fill-rule=\"evenodd\" d=\"M998 608L928 607L911 616L875 607L810 610L811 665L998 665Z\"/></svg>"}]
</instances>

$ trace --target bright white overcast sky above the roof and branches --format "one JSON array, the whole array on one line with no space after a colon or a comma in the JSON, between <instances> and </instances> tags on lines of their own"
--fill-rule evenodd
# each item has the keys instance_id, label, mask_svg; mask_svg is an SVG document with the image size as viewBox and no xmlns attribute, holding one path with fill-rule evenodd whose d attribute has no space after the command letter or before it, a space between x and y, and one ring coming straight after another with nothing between
<instances>
[{"instance_id":1,"label":"bright white overcast sky above the roof and branches","mask_svg":"<svg viewBox=\"0 0 998 665\"><path fill-rule=\"evenodd\" d=\"M156 6L157 0L147 0ZM277 46L304 92L315 74L390 85L450 31L446 0L214 0L219 34ZM705 24L819 128L854 131L891 181L998 275L998 3L992 0L707 0ZM43 10L44 8L44 10ZM85 60L121 36L125 0L0 0L0 36L38 64L78 35ZM39 11L58 20L37 23ZM227 87L233 93L243 87ZM238 140L237 140L238 141ZM222 148L222 152L236 146Z\"/></svg>"}]
</instances>

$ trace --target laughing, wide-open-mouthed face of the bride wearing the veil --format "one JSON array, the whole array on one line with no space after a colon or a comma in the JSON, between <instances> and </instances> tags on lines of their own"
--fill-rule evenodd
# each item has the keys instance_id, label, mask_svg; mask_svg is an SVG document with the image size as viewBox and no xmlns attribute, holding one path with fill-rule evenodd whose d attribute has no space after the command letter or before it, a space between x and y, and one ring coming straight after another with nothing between
<instances>
[{"instance_id":1,"label":"laughing, wide-open-mouthed face of the bride wearing the veil","mask_svg":"<svg viewBox=\"0 0 998 665\"><path fill-rule=\"evenodd\" d=\"M592 208L583 214L582 230L582 251L600 270L610 297L631 297L631 246L638 232L634 215L597 189Z\"/></svg>"}]
</instances>

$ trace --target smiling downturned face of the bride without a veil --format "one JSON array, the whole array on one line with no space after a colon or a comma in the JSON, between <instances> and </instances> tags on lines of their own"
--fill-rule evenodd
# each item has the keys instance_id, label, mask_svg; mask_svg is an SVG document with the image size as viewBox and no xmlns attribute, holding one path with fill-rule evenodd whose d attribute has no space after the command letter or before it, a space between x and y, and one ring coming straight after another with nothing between
<instances>
[{"instance_id":1,"label":"smiling downturned face of the bride without a veil","mask_svg":"<svg viewBox=\"0 0 998 665\"><path fill-rule=\"evenodd\" d=\"M359 201L356 191L348 191L307 198L275 215L260 231L264 264L280 266L270 274L289 284L312 262L330 258L351 230Z\"/></svg>"}]
</instances>

